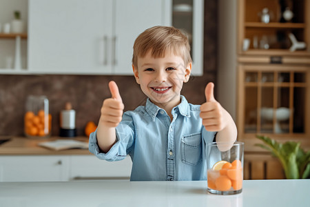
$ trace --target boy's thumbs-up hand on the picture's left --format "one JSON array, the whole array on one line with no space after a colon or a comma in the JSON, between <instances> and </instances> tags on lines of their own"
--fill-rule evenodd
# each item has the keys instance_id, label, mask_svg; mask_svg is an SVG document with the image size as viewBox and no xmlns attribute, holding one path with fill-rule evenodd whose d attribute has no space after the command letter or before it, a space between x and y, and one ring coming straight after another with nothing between
<instances>
[{"instance_id":1,"label":"boy's thumbs-up hand on the picture's left","mask_svg":"<svg viewBox=\"0 0 310 207\"><path fill-rule=\"evenodd\" d=\"M112 97L103 101L99 122L106 127L115 128L122 120L124 104L114 81L110 81L109 88Z\"/></svg>"}]
</instances>

